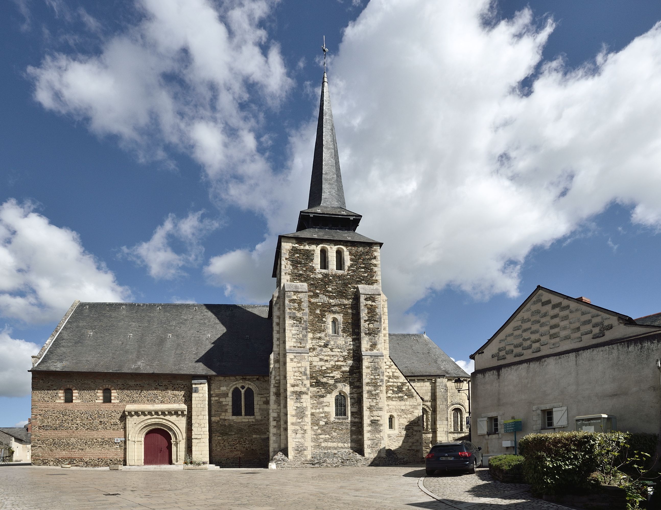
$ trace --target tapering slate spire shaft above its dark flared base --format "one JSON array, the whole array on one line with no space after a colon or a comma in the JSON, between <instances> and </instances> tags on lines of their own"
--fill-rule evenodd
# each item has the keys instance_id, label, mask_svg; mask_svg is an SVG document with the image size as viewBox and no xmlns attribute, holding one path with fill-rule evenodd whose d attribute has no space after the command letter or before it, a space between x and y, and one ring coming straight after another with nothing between
<instances>
[{"instance_id":1,"label":"tapering slate spire shaft above its dark flared base","mask_svg":"<svg viewBox=\"0 0 661 510\"><path fill-rule=\"evenodd\" d=\"M317 141L312 162L312 179L307 207L346 208L344 188L340 174L340 158L337 153L335 127L332 121L331 95L329 82L324 73L319 102L319 120L317 121Z\"/></svg>"}]
</instances>

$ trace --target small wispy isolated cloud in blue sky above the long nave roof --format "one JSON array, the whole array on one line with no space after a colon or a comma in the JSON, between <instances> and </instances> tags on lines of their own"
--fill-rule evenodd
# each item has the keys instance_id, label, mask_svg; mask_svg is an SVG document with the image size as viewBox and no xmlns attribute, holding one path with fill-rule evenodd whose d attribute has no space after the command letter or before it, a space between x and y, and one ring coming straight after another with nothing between
<instances>
[{"instance_id":1,"label":"small wispy isolated cloud in blue sky above the long nave roof","mask_svg":"<svg viewBox=\"0 0 661 510\"><path fill-rule=\"evenodd\" d=\"M172 280L186 273L182 267L196 267L202 263L204 246L202 238L219 227L215 220L201 220L204 210L190 212L186 218L178 219L169 214L149 241L131 248L122 247L122 253L139 265L147 267L149 276L157 280ZM180 253L171 244L178 242Z\"/></svg>"}]
</instances>

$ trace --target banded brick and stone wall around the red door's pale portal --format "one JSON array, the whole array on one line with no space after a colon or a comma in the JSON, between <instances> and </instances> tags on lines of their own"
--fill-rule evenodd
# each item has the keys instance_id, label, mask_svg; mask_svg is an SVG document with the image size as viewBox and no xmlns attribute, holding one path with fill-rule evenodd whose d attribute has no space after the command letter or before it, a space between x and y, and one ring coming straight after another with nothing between
<instances>
[{"instance_id":1,"label":"banded brick and stone wall around the red door's pale portal","mask_svg":"<svg viewBox=\"0 0 661 510\"><path fill-rule=\"evenodd\" d=\"M72 385L77 401L58 402L59 389ZM98 388L116 388L116 402L97 402ZM191 377L186 375L117 375L78 372L32 372L32 463L37 466L123 464L126 453L126 404L186 404L190 410ZM190 455L192 424L187 426Z\"/></svg>"}]
</instances>

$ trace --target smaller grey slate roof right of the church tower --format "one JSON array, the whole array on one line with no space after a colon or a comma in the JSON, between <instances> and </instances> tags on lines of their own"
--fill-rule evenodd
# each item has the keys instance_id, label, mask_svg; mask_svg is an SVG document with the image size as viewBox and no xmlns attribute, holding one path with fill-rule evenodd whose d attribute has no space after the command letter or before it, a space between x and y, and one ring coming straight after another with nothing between
<instances>
[{"instance_id":1,"label":"smaller grey slate roof right of the church tower","mask_svg":"<svg viewBox=\"0 0 661 510\"><path fill-rule=\"evenodd\" d=\"M390 333L390 357L406 377L470 377L427 335Z\"/></svg>"}]
</instances>

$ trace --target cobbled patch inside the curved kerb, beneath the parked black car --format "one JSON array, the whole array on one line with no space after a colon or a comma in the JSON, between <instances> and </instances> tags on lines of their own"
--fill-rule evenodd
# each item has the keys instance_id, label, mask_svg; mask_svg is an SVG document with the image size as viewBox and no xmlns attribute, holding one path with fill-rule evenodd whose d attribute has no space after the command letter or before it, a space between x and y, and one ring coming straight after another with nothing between
<instances>
[{"instance_id":1,"label":"cobbled patch inside the curved kerb, beneath the parked black car","mask_svg":"<svg viewBox=\"0 0 661 510\"><path fill-rule=\"evenodd\" d=\"M486 468L475 474L443 473L423 480L426 490L449 503L451 508L467 510L561 510L566 509L549 501L533 497L526 484L504 484L493 480Z\"/></svg>"}]
</instances>

